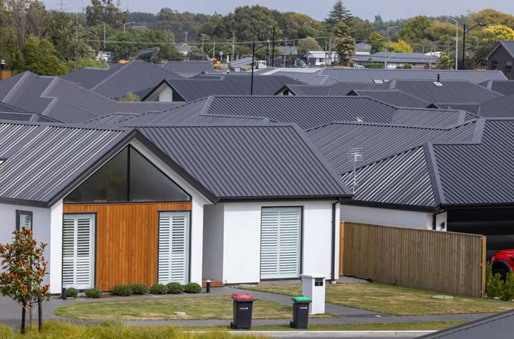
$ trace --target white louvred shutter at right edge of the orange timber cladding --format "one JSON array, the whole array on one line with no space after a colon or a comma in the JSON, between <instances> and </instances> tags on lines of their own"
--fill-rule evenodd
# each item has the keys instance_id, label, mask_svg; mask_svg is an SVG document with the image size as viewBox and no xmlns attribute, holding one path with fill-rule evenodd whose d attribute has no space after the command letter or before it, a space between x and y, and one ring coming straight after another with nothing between
<instances>
[{"instance_id":1,"label":"white louvred shutter at right edge of the orange timber cladding","mask_svg":"<svg viewBox=\"0 0 514 339\"><path fill-rule=\"evenodd\" d=\"M189 213L159 214L159 283L187 283L189 275Z\"/></svg>"}]
</instances>

